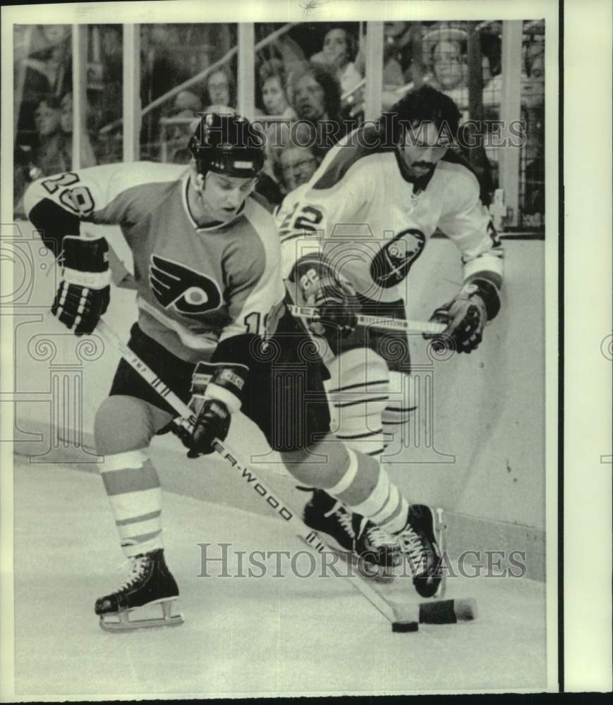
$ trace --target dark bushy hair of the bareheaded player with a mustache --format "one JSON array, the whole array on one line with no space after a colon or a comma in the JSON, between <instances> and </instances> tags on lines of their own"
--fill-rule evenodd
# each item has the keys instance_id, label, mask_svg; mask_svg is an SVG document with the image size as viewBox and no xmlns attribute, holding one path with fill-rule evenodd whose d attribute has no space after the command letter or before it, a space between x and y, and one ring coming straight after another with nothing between
<instances>
[{"instance_id":1,"label":"dark bushy hair of the bareheaded player with a mustache","mask_svg":"<svg viewBox=\"0 0 613 705\"><path fill-rule=\"evenodd\" d=\"M455 139L458 134L460 111L454 101L432 86L423 85L407 93L389 111L381 116L386 143L398 145L409 126L434 123L440 132L446 131Z\"/></svg>"}]
</instances>

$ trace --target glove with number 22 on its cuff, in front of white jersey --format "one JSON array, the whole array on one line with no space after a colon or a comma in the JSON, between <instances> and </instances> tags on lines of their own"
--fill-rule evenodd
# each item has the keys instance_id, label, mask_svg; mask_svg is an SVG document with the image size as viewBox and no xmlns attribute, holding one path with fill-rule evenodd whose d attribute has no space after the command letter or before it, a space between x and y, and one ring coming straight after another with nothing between
<instances>
[{"instance_id":1,"label":"glove with number 22 on its cuff, in front of white jersey","mask_svg":"<svg viewBox=\"0 0 613 705\"><path fill-rule=\"evenodd\" d=\"M346 337L356 330L359 302L351 284L336 276L321 259L305 258L296 264L298 288L306 306L318 309L309 329L318 336L338 333Z\"/></svg>"}]
</instances>

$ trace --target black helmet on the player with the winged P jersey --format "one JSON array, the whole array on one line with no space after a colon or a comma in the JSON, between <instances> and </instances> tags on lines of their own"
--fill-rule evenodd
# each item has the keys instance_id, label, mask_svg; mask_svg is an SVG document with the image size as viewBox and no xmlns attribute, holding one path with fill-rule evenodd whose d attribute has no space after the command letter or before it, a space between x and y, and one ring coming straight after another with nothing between
<instances>
[{"instance_id":1,"label":"black helmet on the player with the winged P jersey","mask_svg":"<svg viewBox=\"0 0 613 705\"><path fill-rule=\"evenodd\" d=\"M202 116L189 149L198 173L207 171L253 178L264 166L265 137L247 118L231 114Z\"/></svg>"}]
</instances>

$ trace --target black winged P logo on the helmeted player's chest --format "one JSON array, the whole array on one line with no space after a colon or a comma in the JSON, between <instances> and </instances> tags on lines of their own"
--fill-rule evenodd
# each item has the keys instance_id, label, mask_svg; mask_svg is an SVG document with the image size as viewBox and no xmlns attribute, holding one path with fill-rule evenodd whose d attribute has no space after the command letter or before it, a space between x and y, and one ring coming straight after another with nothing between
<instances>
[{"instance_id":1,"label":"black winged P logo on the helmeted player's chest","mask_svg":"<svg viewBox=\"0 0 613 705\"><path fill-rule=\"evenodd\" d=\"M149 283L155 298L183 316L200 316L221 305L221 291L210 277L171 259L151 255Z\"/></svg>"}]
</instances>

